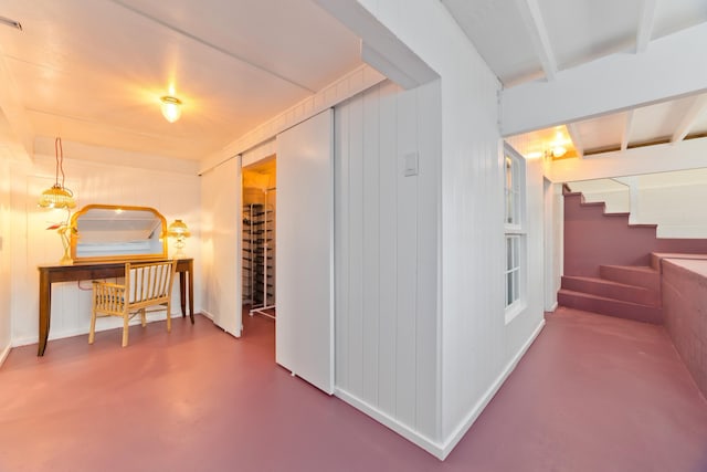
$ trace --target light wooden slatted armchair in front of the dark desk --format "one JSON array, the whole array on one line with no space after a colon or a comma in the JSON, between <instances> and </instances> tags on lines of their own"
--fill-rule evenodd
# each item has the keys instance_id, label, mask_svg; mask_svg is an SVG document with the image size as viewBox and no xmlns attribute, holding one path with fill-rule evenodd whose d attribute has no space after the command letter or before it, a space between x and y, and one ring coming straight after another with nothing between
<instances>
[{"instance_id":1,"label":"light wooden slatted armchair in front of the dark desk","mask_svg":"<svg viewBox=\"0 0 707 472\"><path fill-rule=\"evenodd\" d=\"M146 308L167 308L167 332L171 331L171 293L177 261L126 263L125 283L93 282L93 308L88 344L93 344L96 317L123 317L123 347L128 345L128 322L139 313L143 327L147 324Z\"/></svg>"}]
</instances>

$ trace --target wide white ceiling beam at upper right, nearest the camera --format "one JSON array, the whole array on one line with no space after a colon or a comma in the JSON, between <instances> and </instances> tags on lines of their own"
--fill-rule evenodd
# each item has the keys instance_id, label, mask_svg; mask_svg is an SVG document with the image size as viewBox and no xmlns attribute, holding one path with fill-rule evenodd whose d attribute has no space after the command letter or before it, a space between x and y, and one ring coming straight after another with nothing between
<instances>
[{"instance_id":1,"label":"wide white ceiling beam at upper right, nearest the camera","mask_svg":"<svg viewBox=\"0 0 707 472\"><path fill-rule=\"evenodd\" d=\"M535 129L707 91L707 23L654 40L643 54L616 53L502 91L500 132ZM676 73L679 71L679 73Z\"/></svg>"}]
</instances>

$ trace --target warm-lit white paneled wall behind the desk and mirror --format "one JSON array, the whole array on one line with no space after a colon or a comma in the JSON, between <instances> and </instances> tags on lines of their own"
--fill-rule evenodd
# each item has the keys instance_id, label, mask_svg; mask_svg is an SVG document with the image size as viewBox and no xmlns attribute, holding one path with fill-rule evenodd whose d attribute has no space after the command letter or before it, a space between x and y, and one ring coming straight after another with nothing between
<instances>
[{"instance_id":1,"label":"warm-lit white paneled wall behind the desk and mirror","mask_svg":"<svg viewBox=\"0 0 707 472\"><path fill-rule=\"evenodd\" d=\"M71 146L64 145L64 155ZM96 153L101 153L96 148ZM119 156L119 151L112 150ZM120 162L119 159L116 162ZM11 231L12 247L12 344L38 342L38 290L40 264L57 263L62 245L55 231L46 228L65 218L65 211L38 208L39 195L54 183L54 156L36 156L31 164L11 165ZM194 258L194 310L199 311L200 296L200 193L199 177L127 167L120 164L83 161L65 158L66 187L74 191L77 208L89 203L152 207L161 212L167 223L179 218L191 230L184 252ZM170 253L173 241L169 241ZM172 314L179 312L178 289L175 287ZM50 339L88 332L91 319L91 282L53 284ZM163 314L156 316L163 319ZM119 319L99 319L98 329L120 325ZM48 348L51 350L51 346Z\"/></svg>"}]
</instances>

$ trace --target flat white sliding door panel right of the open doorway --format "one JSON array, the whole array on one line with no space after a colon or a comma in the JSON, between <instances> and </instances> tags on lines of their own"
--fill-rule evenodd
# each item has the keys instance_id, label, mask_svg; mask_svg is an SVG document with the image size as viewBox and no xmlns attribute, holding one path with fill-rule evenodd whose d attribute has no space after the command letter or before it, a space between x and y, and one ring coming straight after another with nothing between
<instances>
[{"instance_id":1,"label":"flat white sliding door panel right of the open doorway","mask_svg":"<svg viewBox=\"0 0 707 472\"><path fill-rule=\"evenodd\" d=\"M277 364L334 392L334 112L277 135Z\"/></svg>"}]
</instances>

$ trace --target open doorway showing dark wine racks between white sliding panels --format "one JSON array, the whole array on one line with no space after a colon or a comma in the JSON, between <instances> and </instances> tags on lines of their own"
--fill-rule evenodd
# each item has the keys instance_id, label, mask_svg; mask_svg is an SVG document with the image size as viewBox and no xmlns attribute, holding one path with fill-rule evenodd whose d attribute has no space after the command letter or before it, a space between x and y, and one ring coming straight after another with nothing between
<instances>
[{"instance_id":1,"label":"open doorway showing dark wine racks between white sliding panels","mask_svg":"<svg viewBox=\"0 0 707 472\"><path fill-rule=\"evenodd\" d=\"M250 316L275 319L277 176L272 155L243 167L242 303Z\"/></svg>"}]
</instances>

